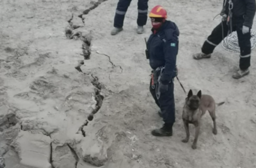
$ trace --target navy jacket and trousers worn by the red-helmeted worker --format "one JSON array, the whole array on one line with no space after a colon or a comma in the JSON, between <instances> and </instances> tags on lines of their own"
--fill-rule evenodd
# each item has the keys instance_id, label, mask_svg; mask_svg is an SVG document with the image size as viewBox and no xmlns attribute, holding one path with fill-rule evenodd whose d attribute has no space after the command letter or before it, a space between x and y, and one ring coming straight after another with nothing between
<instances>
[{"instance_id":1,"label":"navy jacket and trousers worn by the red-helmeted worker","mask_svg":"<svg viewBox=\"0 0 256 168\"><path fill-rule=\"evenodd\" d=\"M156 72L154 73L154 85L151 85L150 82L150 92L161 109L163 121L165 124L170 125L175 122L173 78L177 75L178 36L179 30L177 25L166 20L155 34L152 29L152 34L147 41L150 67ZM160 83L168 85L166 92L159 93L158 86L160 83L158 78Z\"/></svg>"}]
</instances>

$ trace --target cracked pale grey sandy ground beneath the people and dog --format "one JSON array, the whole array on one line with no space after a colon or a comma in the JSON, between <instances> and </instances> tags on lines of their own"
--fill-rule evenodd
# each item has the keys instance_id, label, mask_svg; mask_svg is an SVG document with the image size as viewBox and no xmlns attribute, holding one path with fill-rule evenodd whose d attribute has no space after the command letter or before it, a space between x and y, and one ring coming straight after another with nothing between
<instances>
[{"instance_id":1,"label":"cracked pale grey sandy ground beneath the people and dog","mask_svg":"<svg viewBox=\"0 0 256 168\"><path fill-rule=\"evenodd\" d=\"M124 31L111 36L117 2L0 1L0 156L6 168L256 167L255 50L250 75L241 80L231 77L239 55L221 45L211 59L191 57L220 21L213 17L222 1L149 2L150 9L163 5L179 27L177 64L185 90L225 101L217 109L216 136L204 116L197 150L191 148L192 125L190 141L181 142L186 95L177 80L173 137L151 136L163 124L144 55L151 25L136 34L132 1ZM96 113L92 121L90 113Z\"/></svg>"}]
</instances>

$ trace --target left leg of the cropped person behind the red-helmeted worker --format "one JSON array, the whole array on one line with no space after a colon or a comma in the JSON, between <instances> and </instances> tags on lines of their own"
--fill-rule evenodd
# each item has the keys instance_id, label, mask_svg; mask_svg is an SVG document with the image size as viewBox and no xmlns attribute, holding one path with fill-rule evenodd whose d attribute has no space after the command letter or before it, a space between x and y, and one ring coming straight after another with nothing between
<instances>
[{"instance_id":1,"label":"left leg of the cropped person behind the red-helmeted worker","mask_svg":"<svg viewBox=\"0 0 256 168\"><path fill-rule=\"evenodd\" d=\"M132 0L119 0L114 18L114 29L111 31L111 35L116 35L123 30L125 13L128 10Z\"/></svg>"}]
</instances>

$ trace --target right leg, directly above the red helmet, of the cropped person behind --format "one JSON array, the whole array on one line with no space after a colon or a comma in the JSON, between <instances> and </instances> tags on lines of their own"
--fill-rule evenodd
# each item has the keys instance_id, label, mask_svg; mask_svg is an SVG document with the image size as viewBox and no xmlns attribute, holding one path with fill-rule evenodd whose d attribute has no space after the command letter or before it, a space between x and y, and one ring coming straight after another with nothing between
<instances>
[{"instance_id":1,"label":"right leg, directly above the red helmet, of the cropped person behind","mask_svg":"<svg viewBox=\"0 0 256 168\"><path fill-rule=\"evenodd\" d=\"M149 0L138 0L138 18L137 18L137 33L143 33L143 26L147 23L147 10Z\"/></svg>"}]
</instances>

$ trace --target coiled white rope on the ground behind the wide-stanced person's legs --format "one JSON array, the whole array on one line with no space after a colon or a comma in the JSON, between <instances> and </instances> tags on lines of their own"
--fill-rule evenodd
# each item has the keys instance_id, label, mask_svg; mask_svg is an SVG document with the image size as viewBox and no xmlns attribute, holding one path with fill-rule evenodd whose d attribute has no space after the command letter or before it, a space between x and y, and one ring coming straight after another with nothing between
<instances>
[{"instance_id":1,"label":"coiled white rope on the ground behind the wide-stanced person's legs","mask_svg":"<svg viewBox=\"0 0 256 168\"><path fill-rule=\"evenodd\" d=\"M256 46L256 32L251 30L251 50ZM240 47L238 44L237 32L233 31L224 40L222 40L222 46L225 50L233 53L240 53Z\"/></svg>"}]
</instances>

